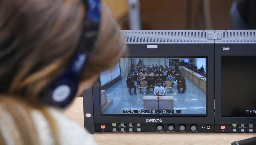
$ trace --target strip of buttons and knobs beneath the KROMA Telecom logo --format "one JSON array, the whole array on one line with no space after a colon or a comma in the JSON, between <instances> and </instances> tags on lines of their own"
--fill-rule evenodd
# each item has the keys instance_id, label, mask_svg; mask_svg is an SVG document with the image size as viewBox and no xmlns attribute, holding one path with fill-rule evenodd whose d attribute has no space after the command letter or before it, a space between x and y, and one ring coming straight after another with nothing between
<instances>
[{"instance_id":1,"label":"strip of buttons and knobs beneath the KROMA Telecom logo","mask_svg":"<svg viewBox=\"0 0 256 145\"><path fill-rule=\"evenodd\" d=\"M214 124L96 123L96 132L214 132Z\"/></svg>"}]
</instances>

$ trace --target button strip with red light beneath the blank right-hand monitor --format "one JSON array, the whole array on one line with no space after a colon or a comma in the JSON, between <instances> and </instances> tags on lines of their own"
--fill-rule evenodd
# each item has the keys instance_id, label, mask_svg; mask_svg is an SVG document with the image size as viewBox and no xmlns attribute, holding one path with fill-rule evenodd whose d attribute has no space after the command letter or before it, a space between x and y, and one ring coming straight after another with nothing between
<instances>
[{"instance_id":1,"label":"button strip with red light beneath the blank right-hand monitor","mask_svg":"<svg viewBox=\"0 0 256 145\"><path fill-rule=\"evenodd\" d=\"M215 124L215 132L253 133L256 132L254 127L252 123Z\"/></svg>"}]
</instances>

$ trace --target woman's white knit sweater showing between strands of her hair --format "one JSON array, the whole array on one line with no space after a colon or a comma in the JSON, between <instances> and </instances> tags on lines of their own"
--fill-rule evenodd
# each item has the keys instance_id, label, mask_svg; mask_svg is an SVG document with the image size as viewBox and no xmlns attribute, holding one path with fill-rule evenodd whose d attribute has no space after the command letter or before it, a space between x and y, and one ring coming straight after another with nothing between
<instances>
[{"instance_id":1,"label":"woman's white knit sweater showing between strands of her hair","mask_svg":"<svg viewBox=\"0 0 256 145\"><path fill-rule=\"evenodd\" d=\"M58 127L58 137L60 145L94 145L96 144L92 138L92 135L89 134L81 125L77 122L68 119L61 111L57 109L50 108L50 113L56 120ZM7 113L6 113L7 114ZM39 141L41 145L53 145L54 140L51 134L51 128L48 121L44 115L37 110L32 111L32 117L35 120L35 126L38 132ZM8 115L10 121L14 121L13 118ZM7 145L13 145L14 141L9 128L2 126L0 122L0 133L2 133L3 138Z\"/></svg>"}]
</instances>

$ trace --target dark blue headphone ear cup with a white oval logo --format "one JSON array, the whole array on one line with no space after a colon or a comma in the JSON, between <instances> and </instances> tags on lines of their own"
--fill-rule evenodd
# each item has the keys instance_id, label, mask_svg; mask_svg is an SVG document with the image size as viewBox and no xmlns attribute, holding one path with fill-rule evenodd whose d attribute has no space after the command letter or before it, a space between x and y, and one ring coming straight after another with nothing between
<instances>
[{"instance_id":1,"label":"dark blue headphone ear cup with a white oval logo","mask_svg":"<svg viewBox=\"0 0 256 145\"><path fill-rule=\"evenodd\" d=\"M47 94L44 96L44 102L56 107L64 108L74 99L77 88L78 79L61 77L49 88Z\"/></svg>"}]
</instances>

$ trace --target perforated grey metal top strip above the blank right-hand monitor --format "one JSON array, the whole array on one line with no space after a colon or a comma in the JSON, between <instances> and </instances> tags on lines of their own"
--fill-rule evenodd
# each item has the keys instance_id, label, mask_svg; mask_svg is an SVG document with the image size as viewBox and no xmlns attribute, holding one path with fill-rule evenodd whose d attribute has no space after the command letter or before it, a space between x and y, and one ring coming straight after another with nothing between
<instances>
[{"instance_id":1,"label":"perforated grey metal top strip above the blank right-hand monitor","mask_svg":"<svg viewBox=\"0 0 256 145\"><path fill-rule=\"evenodd\" d=\"M256 30L216 30L222 33L221 40L215 40L220 43L255 43Z\"/></svg>"}]
</instances>

